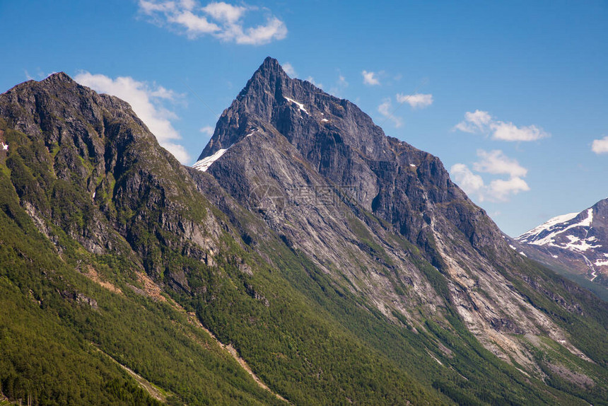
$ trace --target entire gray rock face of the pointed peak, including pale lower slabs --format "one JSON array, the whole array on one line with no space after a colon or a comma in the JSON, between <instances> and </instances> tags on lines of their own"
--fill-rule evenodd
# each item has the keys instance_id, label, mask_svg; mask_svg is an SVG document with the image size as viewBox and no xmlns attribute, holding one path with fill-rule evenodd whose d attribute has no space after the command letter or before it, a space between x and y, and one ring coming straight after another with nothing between
<instances>
[{"instance_id":1,"label":"entire gray rock face of the pointed peak, including pale lower slabs","mask_svg":"<svg viewBox=\"0 0 608 406\"><path fill-rule=\"evenodd\" d=\"M520 276L525 258L440 160L386 137L348 100L290 79L267 58L223 112L199 160L221 149L207 172L228 195L289 248L336 281L346 278L387 318L397 311L414 325L421 315L442 320L451 303L503 359L535 368L518 338L524 334L548 333L580 354L513 289L510 278ZM447 278L448 297L433 289L416 253Z\"/></svg>"}]
</instances>

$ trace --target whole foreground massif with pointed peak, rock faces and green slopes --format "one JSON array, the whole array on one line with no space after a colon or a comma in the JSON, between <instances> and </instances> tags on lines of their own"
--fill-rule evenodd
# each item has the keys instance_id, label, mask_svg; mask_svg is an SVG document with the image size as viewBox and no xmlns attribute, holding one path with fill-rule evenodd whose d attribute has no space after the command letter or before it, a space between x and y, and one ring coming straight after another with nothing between
<instances>
[{"instance_id":1,"label":"whole foreground massif with pointed peak, rock faces and green slopes","mask_svg":"<svg viewBox=\"0 0 608 406\"><path fill-rule=\"evenodd\" d=\"M0 95L0 130L10 401L608 402L608 304L274 59L194 168L65 74Z\"/></svg>"}]
</instances>

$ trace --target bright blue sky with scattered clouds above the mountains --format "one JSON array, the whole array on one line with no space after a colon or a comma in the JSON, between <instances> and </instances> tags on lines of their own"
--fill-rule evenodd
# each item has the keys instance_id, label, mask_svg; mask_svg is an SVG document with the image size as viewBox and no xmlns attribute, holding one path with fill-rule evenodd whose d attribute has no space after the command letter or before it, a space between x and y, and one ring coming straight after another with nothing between
<instances>
[{"instance_id":1,"label":"bright blue sky with scattered clouds above the mountains","mask_svg":"<svg viewBox=\"0 0 608 406\"><path fill-rule=\"evenodd\" d=\"M608 3L530 3L0 1L0 91L65 71L192 164L275 57L439 156L517 236L608 197Z\"/></svg>"}]
</instances>

